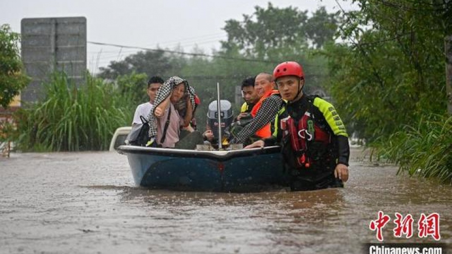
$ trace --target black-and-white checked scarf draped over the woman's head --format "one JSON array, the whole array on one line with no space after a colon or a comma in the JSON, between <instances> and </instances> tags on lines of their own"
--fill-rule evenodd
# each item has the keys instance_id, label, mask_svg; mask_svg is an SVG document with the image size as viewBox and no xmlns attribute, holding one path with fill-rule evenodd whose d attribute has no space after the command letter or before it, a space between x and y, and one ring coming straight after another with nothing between
<instances>
[{"instance_id":1,"label":"black-and-white checked scarf draped over the woman's head","mask_svg":"<svg viewBox=\"0 0 452 254\"><path fill-rule=\"evenodd\" d=\"M156 138L157 136L157 119L155 118L154 111L158 105L160 105L168 96L170 96L171 91L179 84L185 84L185 94L190 97L190 101L192 103L192 110L195 110L195 89L189 86L189 82L182 79L178 76L172 76L170 79L165 81L162 86L160 86L159 90L156 94L156 99L154 102L153 110L149 112L148 120L149 120L149 137ZM186 96L182 96L180 101L175 104L175 108L179 111L181 116L185 115L186 112Z\"/></svg>"}]
</instances>

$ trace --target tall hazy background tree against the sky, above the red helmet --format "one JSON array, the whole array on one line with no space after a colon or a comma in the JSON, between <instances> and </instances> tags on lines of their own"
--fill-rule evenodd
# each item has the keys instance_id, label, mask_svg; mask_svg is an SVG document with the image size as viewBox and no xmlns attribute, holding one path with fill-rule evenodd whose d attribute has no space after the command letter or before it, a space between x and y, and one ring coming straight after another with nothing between
<instances>
[{"instance_id":1,"label":"tall hazy background tree against the sky, above the red helmet","mask_svg":"<svg viewBox=\"0 0 452 254\"><path fill-rule=\"evenodd\" d=\"M223 30L228 40L221 42L223 52L239 50L247 57L277 59L280 51L303 52L309 44L315 48L332 41L337 28L337 13L328 14L325 7L308 17L307 11L294 7L267 9L256 6L243 21L230 19Z\"/></svg>"}]
</instances>

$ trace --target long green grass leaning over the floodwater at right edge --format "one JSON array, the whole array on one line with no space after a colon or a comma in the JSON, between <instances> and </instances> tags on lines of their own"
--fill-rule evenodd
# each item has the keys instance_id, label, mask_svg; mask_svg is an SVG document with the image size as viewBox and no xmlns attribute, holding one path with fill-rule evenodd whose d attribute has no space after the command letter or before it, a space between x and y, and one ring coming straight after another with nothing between
<instances>
[{"instance_id":1,"label":"long green grass leaning over the floodwater at right edge","mask_svg":"<svg viewBox=\"0 0 452 254\"><path fill-rule=\"evenodd\" d=\"M432 114L417 126L392 134L380 150L390 162L399 164L398 173L438 178L452 184L452 116Z\"/></svg>"}]
</instances>

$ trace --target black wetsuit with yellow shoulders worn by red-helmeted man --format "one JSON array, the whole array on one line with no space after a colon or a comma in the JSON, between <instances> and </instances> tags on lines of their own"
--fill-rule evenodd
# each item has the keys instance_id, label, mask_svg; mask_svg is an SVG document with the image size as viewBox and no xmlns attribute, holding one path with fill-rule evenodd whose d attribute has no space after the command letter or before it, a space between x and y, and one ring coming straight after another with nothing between
<instances>
[{"instance_id":1,"label":"black wetsuit with yellow shoulders worn by red-helmeted man","mask_svg":"<svg viewBox=\"0 0 452 254\"><path fill-rule=\"evenodd\" d=\"M294 151L291 135L286 128L281 129L281 120L290 116L298 124L307 111L311 115L309 119L312 119L316 127L330 135L330 143L316 142L314 138L312 141L306 141L305 150ZM283 146L282 152L293 191L343 187L342 181L334 177L334 169L338 163L348 166L348 135L334 107L320 97L303 95L298 101L285 104L275 119L272 137L264 142L266 146L278 143ZM310 163L299 165L295 161L303 153Z\"/></svg>"}]
</instances>

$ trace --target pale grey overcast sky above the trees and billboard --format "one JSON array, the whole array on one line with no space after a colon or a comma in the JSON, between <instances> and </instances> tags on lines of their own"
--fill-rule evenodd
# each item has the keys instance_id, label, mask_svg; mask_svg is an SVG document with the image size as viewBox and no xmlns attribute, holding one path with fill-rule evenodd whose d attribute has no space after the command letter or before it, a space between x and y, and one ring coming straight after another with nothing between
<instances>
[{"instance_id":1,"label":"pale grey overcast sky above the trees and billboard","mask_svg":"<svg viewBox=\"0 0 452 254\"><path fill-rule=\"evenodd\" d=\"M20 32L21 19L31 17L84 16L87 40L146 48L174 49L182 46L191 52L195 45L211 53L218 49L226 33L221 29L228 19L242 20L254 6L266 7L268 0L0 0L0 24L10 24ZM275 7L297 7L312 12L326 6L330 12L339 8L335 0L273 0ZM345 10L351 1L338 0ZM137 50L88 44L88 69L110 61L122 60Z\"/></svg>"}]
</instances>

